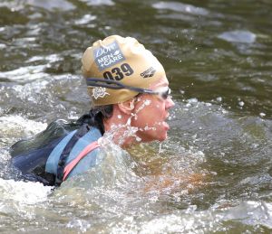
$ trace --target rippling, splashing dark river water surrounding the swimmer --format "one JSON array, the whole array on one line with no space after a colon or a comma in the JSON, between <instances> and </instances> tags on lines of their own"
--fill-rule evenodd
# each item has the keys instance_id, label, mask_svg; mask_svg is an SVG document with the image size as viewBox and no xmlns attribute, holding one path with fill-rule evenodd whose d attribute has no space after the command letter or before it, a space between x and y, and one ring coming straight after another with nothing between
<instances>
[{"instance_id":1,"label":"rippling, splashing dark river water surrounding the swimmer","mask_svg":"<svg viewBox=\"0 0 272 234\"><path fill-rule=\"evenodd\" d=\"M271 233L271 12L268 0L2 0L0 231ZM16 181L8 148L88 110L80 59L111 34L167 70L168 140L106 146L56 190Z\"/></svg>"}]
</instances>

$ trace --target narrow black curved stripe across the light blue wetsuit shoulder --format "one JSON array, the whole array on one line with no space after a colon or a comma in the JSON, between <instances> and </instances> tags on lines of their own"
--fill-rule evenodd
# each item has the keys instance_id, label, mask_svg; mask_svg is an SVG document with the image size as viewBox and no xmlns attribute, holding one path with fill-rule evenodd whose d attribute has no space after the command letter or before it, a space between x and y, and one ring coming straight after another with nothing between
<instances>
[{"instance_id":1,"label":"narrow black curved stripe across the light blue wetsuit shoulder","mask_svg":"<svg viewBox=\"0 0 272 234\"><path fill-rule=\"evenodd\" d=\"M60 186L63 182L63 170L67 161L67 158L70 154L70 152L73 149L73 146L76 144L76 142L83 137L88 131L90 130L90 126L87 124L83 124L76 133L72 136L68 144L64 147L63 153L60 156L58 167L57 167L57 174L55 177L55 186Z\"/></svg>"}]
</instances>

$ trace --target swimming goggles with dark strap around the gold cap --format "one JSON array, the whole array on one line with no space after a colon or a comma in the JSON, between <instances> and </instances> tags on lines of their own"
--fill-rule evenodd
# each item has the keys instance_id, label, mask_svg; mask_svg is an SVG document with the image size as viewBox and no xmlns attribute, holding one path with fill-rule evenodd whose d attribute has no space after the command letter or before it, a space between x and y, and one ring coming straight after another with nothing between
<instances>
[{"instance_id":1,"label":"swimming goggles with dark strap around the gold cap","mask_svg":"<svg viewBox=\"0 0 272 234\"><path fill-rule=\"evenodd\" d=\"M132 91L138 92L138 93L146 93L146 94L153 94L153 95L159 95L162 99L167 99L170 96L170 88L169 87L162 87L157 90L151 90L151 89L142 89L139 87L133 87L124 85L119 81L116 80L102 80L98 78L87 78L86 79L87 86L92 87L103 87L107 89L130 89Z\"/></svg>"}]
</instances>

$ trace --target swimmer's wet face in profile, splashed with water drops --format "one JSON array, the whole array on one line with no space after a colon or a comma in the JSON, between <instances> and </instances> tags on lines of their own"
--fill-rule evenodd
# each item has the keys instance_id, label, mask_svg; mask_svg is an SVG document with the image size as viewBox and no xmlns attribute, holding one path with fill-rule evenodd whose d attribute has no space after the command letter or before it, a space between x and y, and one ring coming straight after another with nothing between
<instances>
[{"instance_id":1,"label":"swimmer's wet face in profile, splashed with water drops","mask_svg":"<svg viewBox=\"0 0 272 234\"><path fill-rule=\"evenodd\" d=\"M151 85L150 89L159 91L167 90L169 82L166 77ZM170 98L163 98L159 95L142 94L137 98L131 126L136 126L140 130L136 133L141 138L141 142L150 142L153 140L163 141L167 137L169 125L165 122L169 117L169 109L174 106Z\"/></svg>"}]
</instances>

